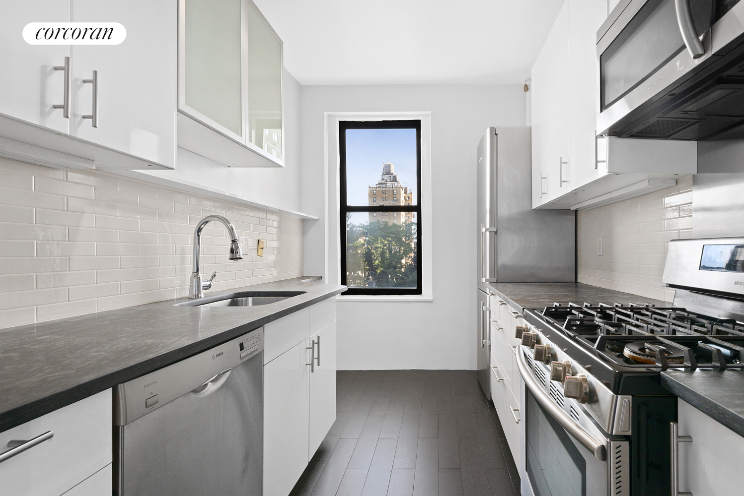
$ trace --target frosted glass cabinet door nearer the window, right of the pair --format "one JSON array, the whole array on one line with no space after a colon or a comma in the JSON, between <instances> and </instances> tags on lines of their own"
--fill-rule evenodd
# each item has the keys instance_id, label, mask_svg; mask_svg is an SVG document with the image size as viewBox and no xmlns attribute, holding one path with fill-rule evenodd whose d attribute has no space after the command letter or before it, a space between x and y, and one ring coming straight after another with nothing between
<instances>
[{"instance_id":1,"label":"frosted glass cabinet door nearer the window, right of the pair","mask_svg":"<svg viewBox=\"0 0 744 496\"><path fill-rule=\"evenodd\" d=\"M250 2L248 13L248 140L283 159L281 75L282 45Z\"/></svg>"}]
</instances>

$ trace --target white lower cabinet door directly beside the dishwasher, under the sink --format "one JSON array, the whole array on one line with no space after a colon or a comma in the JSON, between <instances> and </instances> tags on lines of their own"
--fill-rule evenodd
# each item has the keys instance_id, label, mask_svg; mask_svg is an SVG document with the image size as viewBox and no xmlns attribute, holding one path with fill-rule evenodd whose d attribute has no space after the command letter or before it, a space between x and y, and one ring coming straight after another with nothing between
<instances>
[{"instance_id":1,"label":"white lower cabinet door directly beside the dishwasher, under the sink","mask_svg":"<svg viewBox=\"0 0 744 496\"><path fill-rule=\"evenodd\" d=\"M310 340L263 366L263 494L289 495L307 466Z\"/></svg>"}]
</instances>

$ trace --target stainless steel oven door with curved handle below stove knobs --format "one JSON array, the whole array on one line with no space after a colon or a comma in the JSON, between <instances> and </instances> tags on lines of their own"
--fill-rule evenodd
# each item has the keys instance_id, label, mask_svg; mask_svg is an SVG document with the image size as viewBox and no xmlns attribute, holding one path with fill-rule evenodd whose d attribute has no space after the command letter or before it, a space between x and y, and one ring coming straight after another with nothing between
<instances>
[{"instance_id":1,"label":"stainless steel oven door with curved handle below stove knobs","mask_svg":"<svg viewBox=\"0 0 744 496\"><path fill-rule=\"evenodd\" d=\"M525 381L525 473L533 495L629 495L629 442L604 434L530 353L520 346L516 362Z\"/></svg>"}]
</instances>

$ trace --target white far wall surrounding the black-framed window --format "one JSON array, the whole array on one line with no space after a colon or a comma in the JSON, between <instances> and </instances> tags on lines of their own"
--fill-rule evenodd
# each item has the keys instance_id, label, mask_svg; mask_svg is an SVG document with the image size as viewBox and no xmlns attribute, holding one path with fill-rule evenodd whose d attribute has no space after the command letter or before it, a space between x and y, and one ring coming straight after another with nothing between
<instances>
[{"instance_id":1,"label":"white far wall surrounding the black-framed window","mask_svg":"<svg viewBox=\"0 0 744 496\"><path fill-rule=\"evenodd\" d=\"M339 369L475 369L475 152L488 126L525 125L522 84L303 86L302 211L320 218L305 221L305 273L326 272L324 218L336 215L324 197L324 112L400 111L432 113L434 301L339 298Z\"/></svg>"}]
</instances>

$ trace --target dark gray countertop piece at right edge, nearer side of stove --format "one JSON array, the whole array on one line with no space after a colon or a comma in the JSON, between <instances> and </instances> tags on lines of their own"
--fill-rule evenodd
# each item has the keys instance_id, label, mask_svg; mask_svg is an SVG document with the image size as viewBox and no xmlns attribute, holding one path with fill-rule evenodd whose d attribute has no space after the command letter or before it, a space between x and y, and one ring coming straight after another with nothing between
<instances>
[{"instance_id":1,"label":"dark gray countertop piece at right edge, nearer side of stove","mask_svg":"<svg viewBox=\"0 0 744 496\"><path fill-rule=\"evenodd\" d=\"M664 371L661 384L708 417L744 436L744 373Z\"/></svg>"}]
</instances>

